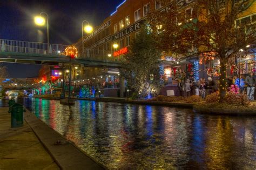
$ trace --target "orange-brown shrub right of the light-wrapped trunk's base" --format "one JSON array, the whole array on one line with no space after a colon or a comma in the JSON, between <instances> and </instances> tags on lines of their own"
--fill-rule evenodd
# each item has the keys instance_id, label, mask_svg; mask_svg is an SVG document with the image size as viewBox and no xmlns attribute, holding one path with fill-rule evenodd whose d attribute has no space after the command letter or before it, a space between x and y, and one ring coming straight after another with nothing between
<instances>
[{"instance_id":1,"label":"orange-brown shrub right of the light-wrapped trunk's base","mask_svg":"<svg viewBox=\"0 0 256 170\"><path fill-rule=\"evenodd\" d=\"M229 91L226 93L226 96L224 97L224 103L234 105L247 105L250 102L247 100L245 94L235 94Z\"/></svg>"}]
</instances>

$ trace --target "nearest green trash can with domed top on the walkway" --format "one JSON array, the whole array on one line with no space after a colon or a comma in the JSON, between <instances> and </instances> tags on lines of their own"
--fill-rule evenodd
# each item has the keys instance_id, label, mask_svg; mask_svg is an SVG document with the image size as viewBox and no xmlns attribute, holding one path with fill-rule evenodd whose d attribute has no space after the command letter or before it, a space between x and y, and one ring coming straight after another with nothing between
<instances>
[{"instance_id":1,"label":"nearest green trash can with domed top on the walkway","mask_svg":"<svg viewBox=\"0 0 256 170\"><path fill-rule=\"evenodd\" d=\"M25 111L23 105L17 103L10 107L8 112L11 113L11 127L23 126L23 112Z\"/></svg>"}]
</instances>

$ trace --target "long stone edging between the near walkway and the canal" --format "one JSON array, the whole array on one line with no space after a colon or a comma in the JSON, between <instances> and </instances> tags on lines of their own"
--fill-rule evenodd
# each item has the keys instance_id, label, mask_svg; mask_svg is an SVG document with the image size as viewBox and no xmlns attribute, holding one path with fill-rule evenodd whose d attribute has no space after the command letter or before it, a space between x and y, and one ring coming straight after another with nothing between
<instances>
[{"instance_id":1,"label":"long stone edging between the near walkway and the canal","mask_svg":"<svg viewBox=\"0 0 256 170\"><path fill-rule=\"evenodd\" d=\"M24 112L24 119L61 169L106 169L30 111ZM57 141L60 144L54 145Z\"/></svg>"}]
</instances>

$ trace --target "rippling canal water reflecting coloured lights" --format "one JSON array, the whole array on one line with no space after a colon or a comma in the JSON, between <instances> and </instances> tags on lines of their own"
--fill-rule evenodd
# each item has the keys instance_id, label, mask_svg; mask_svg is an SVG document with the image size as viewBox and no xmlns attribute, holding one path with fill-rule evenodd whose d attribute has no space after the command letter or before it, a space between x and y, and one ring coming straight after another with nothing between
<instances>
[{"instance_id":1,"label":"rippling canal water reflecting coloured lights","mask_svg":"<svg viewBox=\"0 0 256 170\"><path fill-rule=\"evenodd\" d=\"M254 117L85 100L18 102L110 169L256 169Z\"/></svg>"}]
</instances>

